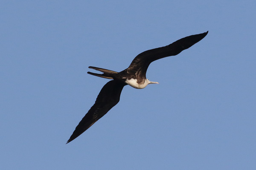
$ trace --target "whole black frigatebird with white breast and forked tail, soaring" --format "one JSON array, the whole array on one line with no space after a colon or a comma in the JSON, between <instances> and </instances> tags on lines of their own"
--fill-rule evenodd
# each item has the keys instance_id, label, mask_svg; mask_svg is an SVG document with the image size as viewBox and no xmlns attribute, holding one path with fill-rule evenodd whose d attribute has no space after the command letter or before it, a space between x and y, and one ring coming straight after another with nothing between
<instances>
[{"instance_id":1,"label":"whole black frigatebird with white breast and forked tail, soaring","mask_svg":"<svg viewBox=\"0 0 256 170\"><path fill-rule=\"evenodd\" d=\"M179 54L181 51L202 40L207 33L208 31L202 34L191 35L177 40L170 45L144 51L132 60L131 65L128 68L121 72L90 66L89 68L101 71L103 74L87 72L88 74L113 80L107 82L103 86L97 96L95 104L90 108L88 113L85 114L81 122L79 122L67 143L73 141L79 135L84 133L85 130L91 127L97 120L102 118L102 116L113 108L119 102L122 89L125 85L142 89L148 84L159 84L158 82L151 82L146 78L146 71L151 62Z\"/></svg>"}]
</instances>

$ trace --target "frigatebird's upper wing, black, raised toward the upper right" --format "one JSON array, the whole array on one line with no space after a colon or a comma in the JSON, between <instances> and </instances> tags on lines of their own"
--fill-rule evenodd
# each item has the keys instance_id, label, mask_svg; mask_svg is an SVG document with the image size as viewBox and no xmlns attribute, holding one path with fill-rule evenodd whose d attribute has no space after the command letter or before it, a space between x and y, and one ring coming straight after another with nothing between
<instances>
[{"instance_id":1,"label":"frigatebird's upper wing, black, raised toward the upper right","mask_svg":"<svg viewBox=\"0 0 256 170\"><path fill-rule=\"evenodd\" d=\"M175 56L202 40L207 34L208 31L202 34L191 35L177 40L170 45L144 51L133 59L131 65L127 68L127 71L134 74L139 71L145 74L148 65L150 65L151 62L164 57Z\"/></svg>"}]
</instances>

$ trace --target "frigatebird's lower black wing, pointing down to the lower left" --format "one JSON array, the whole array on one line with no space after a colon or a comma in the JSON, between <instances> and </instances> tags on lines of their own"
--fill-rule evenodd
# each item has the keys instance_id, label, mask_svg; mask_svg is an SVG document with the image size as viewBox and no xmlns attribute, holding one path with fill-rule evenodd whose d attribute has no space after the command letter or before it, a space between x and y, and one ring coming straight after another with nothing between
<instances>
[{"instance_id":1,"label":"frigatebird's lower black wing, pointing down to the lower left","mask_svg":"<svg viewBox=\"0 0 256 170\"><path fill-rule=\"evenodd\" d=\"M116 80L111 80L105 84L99 92L95 104L86 113L81 122L79 122L67 143L84 133L85 130L113 108L119 102L122 89L125 85L125 83Z\"/></svg>"}]
</instances>

